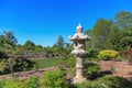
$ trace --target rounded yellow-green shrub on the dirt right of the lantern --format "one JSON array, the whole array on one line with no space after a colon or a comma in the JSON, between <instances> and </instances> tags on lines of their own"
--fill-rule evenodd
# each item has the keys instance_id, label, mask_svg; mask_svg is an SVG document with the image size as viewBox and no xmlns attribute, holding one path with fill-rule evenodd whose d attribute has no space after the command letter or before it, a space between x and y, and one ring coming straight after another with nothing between
<instances>
[{"instance_id":1,"label":"rounded yellow-green shrub on the dirt right of the lantern","mask_svg":"<svg viewBox=\"0 0 132 88\"><path fill-rule=\"evenodd\" d=\"M98 57L101 59L111 59L111 58L117 58L119 56L119 52L116 51L101 51L99 52Z\"/></svg>"}]
</instances>

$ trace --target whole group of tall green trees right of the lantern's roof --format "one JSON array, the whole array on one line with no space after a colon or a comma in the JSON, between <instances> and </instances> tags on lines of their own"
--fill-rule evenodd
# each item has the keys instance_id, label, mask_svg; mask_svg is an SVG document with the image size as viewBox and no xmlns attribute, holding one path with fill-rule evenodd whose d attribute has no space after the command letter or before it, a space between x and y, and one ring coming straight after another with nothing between
<instances>
[{"instance_id":1,"label":"whole group of tall green trees right of the lantern's roof","mask_svg":"<svg viewBox=\"0 0 132 88\"><path fill-rule=\"evenodd\" d=\"M125 51L132 47L132 12L120 11L114 21L99 19L91 30L87 46L100 50ZM88 48L87 47L87 48Z\"/></svg>"}]
</instances>

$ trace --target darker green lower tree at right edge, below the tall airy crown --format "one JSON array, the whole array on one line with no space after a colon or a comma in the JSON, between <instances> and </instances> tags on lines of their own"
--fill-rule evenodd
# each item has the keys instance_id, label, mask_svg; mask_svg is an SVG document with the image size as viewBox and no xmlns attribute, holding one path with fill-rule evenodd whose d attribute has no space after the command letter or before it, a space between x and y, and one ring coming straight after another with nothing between
<instances>
[{"instance_id":1,"label":"darker green lower tree at right edge, below the tall airy crown","mask_svg":"<svg viewBox=\"0 0 132 88\"><path fill-rule=\"evenodd\" d=\"M132 28L128 30L113 29L109 37L110 48L124 51L132 48Z\"/></svg>"}]
</instances>

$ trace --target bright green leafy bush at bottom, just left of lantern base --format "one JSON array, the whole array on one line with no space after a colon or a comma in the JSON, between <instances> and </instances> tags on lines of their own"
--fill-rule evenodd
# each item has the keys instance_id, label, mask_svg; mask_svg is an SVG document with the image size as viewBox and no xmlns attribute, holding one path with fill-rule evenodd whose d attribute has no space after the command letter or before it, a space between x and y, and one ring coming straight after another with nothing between
<instances>
[{"instance_id":1,"label":"bright green leafy bush at bottom, just left of lantern base","mask_svg":"<svg viewBox=\"0 0 132 88\"><path fill-rule=\"evenodd\" d=\"M66 74L62 70L46 72L42 79L42 85L47 88L65 88Z\"/></svg>"}]
</instances>

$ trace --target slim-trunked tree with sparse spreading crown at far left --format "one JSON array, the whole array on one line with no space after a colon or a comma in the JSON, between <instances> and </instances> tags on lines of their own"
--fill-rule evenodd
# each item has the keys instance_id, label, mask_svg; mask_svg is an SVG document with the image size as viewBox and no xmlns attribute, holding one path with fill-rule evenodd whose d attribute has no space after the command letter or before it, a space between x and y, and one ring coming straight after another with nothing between
<instances>
[{"instance_id":1,"label":"slim-trunked tree with sparse spreading crown at far left","mask_svg":"<svg viewBox=\"0 0 132 88\"><path fill-rule=\"evenodd\" d=\"M2 40L1 42L4 48L4 52L9 56L9 59L11 59L10 68L11 68L11 75L13 77L14 59L16 58L16 54L18 54L16 51L19 51L19 50L15 50L18 41L12 31L8 31L8 32L4 31L3 34L1 35L1 40Z\"/></svg>"}]
</instances>

